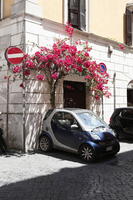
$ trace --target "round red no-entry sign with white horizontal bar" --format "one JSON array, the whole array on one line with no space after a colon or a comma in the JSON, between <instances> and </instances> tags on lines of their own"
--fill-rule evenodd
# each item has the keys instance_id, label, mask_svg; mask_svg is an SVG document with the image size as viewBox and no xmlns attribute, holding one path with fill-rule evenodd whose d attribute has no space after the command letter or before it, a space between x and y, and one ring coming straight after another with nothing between
<instances>
[{"instance_id":1,"label":"round red no-entry sign with white horizontal bar","mask_svg":"<svg viewBox=\"0 0 133 200\"><path fill-rule=\"evenodd\" d=\"M18 47L8 47L5 57L11 64L20 64L24 59L24 52Z\"/></svg>"}]
</instances>

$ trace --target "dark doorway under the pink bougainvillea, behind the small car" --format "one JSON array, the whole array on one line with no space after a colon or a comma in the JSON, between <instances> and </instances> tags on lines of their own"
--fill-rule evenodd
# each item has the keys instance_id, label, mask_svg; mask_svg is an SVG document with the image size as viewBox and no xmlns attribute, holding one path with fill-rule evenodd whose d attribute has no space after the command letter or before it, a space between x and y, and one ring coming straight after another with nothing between
<instances>
[{"instance_id":1,"label":"dark doorway under the pink bougainvillea, behind the small car","mask_svg":"<svg viewBox=\"0 0 133 200\"><path fill-rule=\"evenodd\" d=\"M64 107L86 108L86 83L64 81Z\"/></svg>"}]
</instances>

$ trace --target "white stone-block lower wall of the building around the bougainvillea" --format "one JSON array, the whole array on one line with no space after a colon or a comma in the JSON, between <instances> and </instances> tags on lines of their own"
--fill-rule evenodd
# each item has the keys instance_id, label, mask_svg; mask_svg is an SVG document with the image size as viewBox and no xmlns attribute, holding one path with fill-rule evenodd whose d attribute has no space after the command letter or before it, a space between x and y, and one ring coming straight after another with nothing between
<instances>
[{"instance_id":1,"label":"white stone-block lower wall of the building around the bougainvillea","mask_svg":"<svg viewBox=\"0 0 133 200\"><path fill-rule=\"evenodd\" d=\"M21 1L20 1L21 2ZM21 2L22 3L22 2ZM33 2L32 2L33 3ZM35 5L34 5L35 6ZM15 11L15 7L14 10ZM42 20L28 13L21 16L14 15L11 19L0 22L0 63L6 64L4 52L10 45L21 47L27 53L35 51L33 43L40 46L50 46L55 38L64 38L66 33L64 26L49 20ZM132 49L120 50L117 42L105 40L95 35L75 30L74 39L88 40L92 46L91 55L97 63L104 62L110 74L109 88L111 98L104 98L101 102L93 104L91 108L97 112L105 121L109 122L114 110L114 88L113 75L116 73L116 107L127 106L127 85L132 80L133 74L133 52ZM111 55L108 54L108 46L113 47ZM37 49L37 48L36 48ZM1 65L0 64L0 65ZM28 80L24 91L19 87L21 81L9 84L9 104L7 106L7 85L4 79L7 74L7 65L0 72L0 111L3 112L5 137L8 138L9 146L23 149L24 141L26 150L33 150L41 129L42 118L50 108L49 91L46 82ZM67 80L77 81L77 77L67 77ZM80 78L80 81L84 81ZM63 81L60 82L56 92L57 107L63 106ZM86 106L90 104L90 94L86 95ZM7 114L7 108L9 112ZM24 113L25 108L25 113ZM25 119L24 119L25 117ZM7 125L8 121L8 125ZM23 122L25 127L23 126Z\"/></svg>"}]
</instances>

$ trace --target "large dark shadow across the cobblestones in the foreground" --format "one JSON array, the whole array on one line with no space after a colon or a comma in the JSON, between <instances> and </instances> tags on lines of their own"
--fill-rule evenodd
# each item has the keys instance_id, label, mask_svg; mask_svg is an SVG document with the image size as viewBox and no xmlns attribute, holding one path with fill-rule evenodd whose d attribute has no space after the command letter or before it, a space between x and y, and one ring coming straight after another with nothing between
<instances>
[{"instance_id":1,"label":"large dark shadow across the cobblestones in the foreground","mask_svg":"<svg viewBox=\"0 0 133 200\"><path fill-rule=\"evenodd\" d=\"M129 151L104 163L63 168L58 172L44 170L38 177L2 186L0 199L132 199L132 160L133 151Z\"/></svg>"}]
</instances>

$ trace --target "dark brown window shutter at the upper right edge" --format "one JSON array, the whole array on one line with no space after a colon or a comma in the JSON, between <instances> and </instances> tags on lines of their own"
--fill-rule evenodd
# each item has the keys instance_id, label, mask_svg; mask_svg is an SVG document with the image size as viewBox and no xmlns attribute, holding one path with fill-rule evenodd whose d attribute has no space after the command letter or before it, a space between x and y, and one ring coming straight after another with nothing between
<instances>
[{"instance_id":1,"label":"dark brown window shutter at the upper right edge","mask_svg":"<svg viewBox=\"0 0 133 200\"><path fill-rule=\"evenodd\" d=\"M125 43L132 45L132 11L126 9L125 14Z\"/></svg>"}]
</instances>

